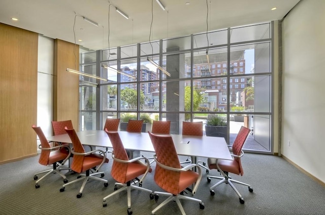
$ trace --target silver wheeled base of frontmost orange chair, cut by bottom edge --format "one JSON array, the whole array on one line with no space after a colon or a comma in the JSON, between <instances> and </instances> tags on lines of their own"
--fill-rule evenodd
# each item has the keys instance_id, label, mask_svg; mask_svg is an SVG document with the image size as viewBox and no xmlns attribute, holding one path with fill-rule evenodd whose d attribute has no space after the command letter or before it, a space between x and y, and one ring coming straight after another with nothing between
<instances>
[{"instance_id":1,"label":"silver wheeled base of frontmost orange chair, cut by bottom edge","mask_svg":"<svg viewBox=\"0 0 325 215\"><path fill-rule=\"evenodd\" d=\"M160 195L165 195L165 196L169 196L165 201L163 201L161 204L159 204L156 208L154 208L152 211L151 211L151 214L154 215L154 213L159 210L161 207L165 206L168 202L170 201L175 201L179 207L179 209L181 210L182 214L183 215L186 215L185 214L185 211L184 211L184 208L181 204L181 202L179 201L180 199L186 199L186 200L191 200L191 201L196 201L196 202L199 202L200 204L200 209L204 209L204 203L202 202L202 200L200 199L196 199L196 198L192 198L192 197L189 197L189 196L183 196L183 195L173 195L171 193L166 193L166 192L154 192L154 195L155 195L155 199L157 200L158 199L158 195L157 194L160 194Z\"/></svg>"}]
</instances>

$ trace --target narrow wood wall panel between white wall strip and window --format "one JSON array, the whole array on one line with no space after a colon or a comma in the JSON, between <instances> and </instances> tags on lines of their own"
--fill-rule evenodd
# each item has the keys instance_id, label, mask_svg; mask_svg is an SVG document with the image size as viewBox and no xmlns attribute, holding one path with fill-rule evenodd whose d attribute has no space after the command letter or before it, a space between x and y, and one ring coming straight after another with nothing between
<instances>
[{"instance_id":1,"label":"narrow wood wall panel between white wall strip and window","mask_svg":"<svg viewBox=\"0 0 325 215\"><path fill-rule=\"evenodd\" d=\"M71 119L79 131L79 75L67 72L67 68L79 70L79 46L55 39L54 121Z\"/></svg>"}]
</instances>

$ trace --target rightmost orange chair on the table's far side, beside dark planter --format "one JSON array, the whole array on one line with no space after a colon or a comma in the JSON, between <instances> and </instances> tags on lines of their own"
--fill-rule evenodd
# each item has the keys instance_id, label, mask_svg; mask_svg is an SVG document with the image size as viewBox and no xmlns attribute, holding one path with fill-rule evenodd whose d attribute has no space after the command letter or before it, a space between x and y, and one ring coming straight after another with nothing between
<instances>
[{"instance_id":1,"label":"rightmost orange chair on the table's far side, beside dark planter","mask_svg":"<svg viewBox=\"0 0 325 215\"><path fill-rule=\"evenodd\" d=\"M192 136L203 136L203 122L184 122L183 121L183 128L182 128L182 134L183 135L192 135ZM188 158L186 161L181 162L182 163L190 163L191 160ZM201 164L202 163L202 164ZM208 167L205 166L205 162L202 160L198 161L199 166L206 169L206 173L209 173Z\"/></svg>"}]
</instances>

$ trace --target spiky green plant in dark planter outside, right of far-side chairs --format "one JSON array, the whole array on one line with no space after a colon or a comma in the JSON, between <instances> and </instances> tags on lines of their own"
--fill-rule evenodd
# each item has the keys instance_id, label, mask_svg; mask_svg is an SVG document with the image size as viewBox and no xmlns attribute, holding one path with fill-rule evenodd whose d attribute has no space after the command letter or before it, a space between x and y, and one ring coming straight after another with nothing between
<instances>
[{"instance_id":1,"label":"spiky green plant in dark planter outside, right of far-side chairs","mask_svg":"<svg viewBox=\"0 0 325 215\"><path fill-rule=\"evenodd\" d=\"M223 137L226 142L227 138L227 122L224 117L218 114L209 114L205 125L205 132L207 136Z\"/></svg>"}]
</instances>

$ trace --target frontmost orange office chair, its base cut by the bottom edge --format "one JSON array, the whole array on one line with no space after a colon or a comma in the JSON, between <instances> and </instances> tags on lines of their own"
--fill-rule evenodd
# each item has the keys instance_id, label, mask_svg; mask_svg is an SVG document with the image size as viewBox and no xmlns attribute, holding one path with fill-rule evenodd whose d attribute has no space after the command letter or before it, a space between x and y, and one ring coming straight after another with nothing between
<instances>
[{"instance_id":1,"label":"frontmost orange office chair, its base cut by the bottom edge","mask_svg":"<svg viewBox=\"0 0 325 215\"><path fill-rule=\"evenodd\" d=\"M154 159L157 163L154 181L160 188L168 192L154 192L154 198L158 200L157 194L169 196L163 203L153 209L151 213L154 214L158 209L170 201L176 201L179 209L184 215L185 211L179 199L199 202L200 209L204 209L202 200L180 195L180 193L194 183L192 195L196 193L202 178L201 168L197 168L199 170L198 173L190 169L197 167L198 164L192 163L182 168L171 136L159 136L150 132L149 136L156 153L154 155Z\"/></svg>"}]
</instances>

